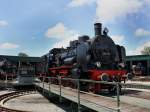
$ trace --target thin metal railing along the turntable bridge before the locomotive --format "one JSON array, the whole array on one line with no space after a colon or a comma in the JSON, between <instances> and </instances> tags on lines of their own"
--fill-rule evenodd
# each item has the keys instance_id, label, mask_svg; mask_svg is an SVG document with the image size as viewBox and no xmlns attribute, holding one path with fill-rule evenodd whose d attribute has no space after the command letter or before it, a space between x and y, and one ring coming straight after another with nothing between
<instances>
[{"instance_id":1,"label":"thin metal railing along the turntable bridge before the locomotive","mask_svg":"<svg viewBox=\"0 0 150 112\"><path fill-rule=\"evenodd\" d=\"M81 112L81 98L80 98L80 92L82 92L80 90L80 82L86 82L86 83L95 83L95 84L107 84L107 85L113 85L116 87L116 95L117 95L117 99L116 99L116 107L117 108L109 108L110 110L116 111L116 112L120 112L120 83L119 82L106 82L106 81L94 81L94 80L87 80L87 79L72 79L72 78L63 78L61 76L59 77L43 77L42 79L42 86L43 86L43 93L44 93L44 83L45 83L45 79L48 79L48 88L49 88L49 92L51 92L51 80L52 79L56 79L58 81L58 86L59 86L59 101L62 102L62 81L66 80L66 81L75 81L77 83L77 104L78 104L78 112ZM85 92L86 93L86 92ZM101 95L99 95L101 96ZM102 106L102 105L101 105ZM107 107L105 107L107 108Z\"/></svg>"}]
</instances>

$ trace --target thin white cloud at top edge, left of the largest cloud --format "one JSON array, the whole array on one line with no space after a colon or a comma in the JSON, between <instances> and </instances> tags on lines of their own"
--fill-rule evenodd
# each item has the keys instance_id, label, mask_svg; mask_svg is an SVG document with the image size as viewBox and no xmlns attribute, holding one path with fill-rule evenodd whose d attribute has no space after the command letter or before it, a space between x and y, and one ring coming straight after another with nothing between
<instances>
[{"instance_id":1,"label":"thin white cloud at top edge, left of the largest cloud","mask_svg":"<svg viewBox=\"0 0 150 112\"><path fill-rule=\"evenodd\" d=\"M83 6L83 5L87 5L87 4L91 4L96 0L72 0L68 6L69 7L78 7L78 6Z\"/></svg>"}]
</instances>

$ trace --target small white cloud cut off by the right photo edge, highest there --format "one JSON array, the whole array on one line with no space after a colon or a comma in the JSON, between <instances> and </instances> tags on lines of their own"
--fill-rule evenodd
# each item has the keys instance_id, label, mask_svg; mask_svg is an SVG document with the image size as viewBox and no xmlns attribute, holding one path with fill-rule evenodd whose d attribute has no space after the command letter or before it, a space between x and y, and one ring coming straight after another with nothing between
<instances>
[{"instance_id":1,"label":"small white cloud cut off by the right photo edge, highest there","mask_svg":"<svg viewBox=\"0 0 150 112\"><path fill-rule=\"evenodd\" d=\"M137 37L150 36L150 30L145 30L143 28L138 28L135 31L135 36L137 36Z\"/></svg>"}]
</instances>

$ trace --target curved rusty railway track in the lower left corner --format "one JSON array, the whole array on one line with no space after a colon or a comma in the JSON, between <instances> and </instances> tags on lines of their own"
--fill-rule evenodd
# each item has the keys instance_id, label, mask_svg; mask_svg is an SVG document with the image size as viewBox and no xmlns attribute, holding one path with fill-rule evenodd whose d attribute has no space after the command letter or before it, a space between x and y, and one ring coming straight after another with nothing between
<instances>
[{"instance_id":1,"label":"curved rusty railway track in the lower left corner","mask_svg":"<svg viewBox=\"0 0 150 112\"><path fill-rule=\"evenodd\" d=\"M23 95L28 95L32 93L33 91L31 90L30 91L22 90L22 91L16 91L16 92L11 92L11 93L1 95L0 96L0 112L27 112L27 111L22 111L22 110L9 109L7 107L4 107L4 103L12 98L23 96Z\"/></svg>"}]
</instances>

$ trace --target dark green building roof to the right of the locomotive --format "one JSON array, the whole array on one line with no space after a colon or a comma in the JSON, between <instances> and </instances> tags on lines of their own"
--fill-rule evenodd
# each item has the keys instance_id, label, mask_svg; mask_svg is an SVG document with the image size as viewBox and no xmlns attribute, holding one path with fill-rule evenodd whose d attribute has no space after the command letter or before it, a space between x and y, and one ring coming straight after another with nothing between
<instances>
[{"instance_id":1,"label":"dark green building roof to the right of the locomotive","mask_svg":"<svg viewBox=\"0 0 150 112\"><path fill-rule=\"evenodd\" d=\"M150 55L132 55L126 56L126 61L150 60Z\"/></svg>"}]
</instances>

